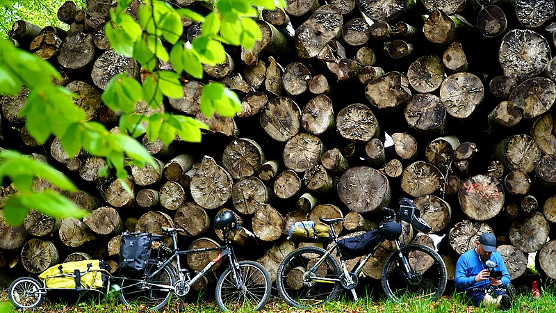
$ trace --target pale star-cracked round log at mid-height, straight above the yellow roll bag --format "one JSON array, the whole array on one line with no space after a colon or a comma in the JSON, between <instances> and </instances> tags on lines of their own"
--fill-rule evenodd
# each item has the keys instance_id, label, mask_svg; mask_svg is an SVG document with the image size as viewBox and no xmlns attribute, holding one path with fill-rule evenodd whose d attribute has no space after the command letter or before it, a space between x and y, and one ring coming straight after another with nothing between
<instances>
[{"instance_id":1,"label":"pale star-cracked round log at mid-height, straight above the yellow roll bag","mask_svg":"<svg viewBox=\"0 0 556 313\"><path fill-rule=\"evenodd\" d=\"M304 172L316 166L325 147L314 135L301 133L291 138L284 147L284 166L295 172Z\"/></svg>"}]
</instances>

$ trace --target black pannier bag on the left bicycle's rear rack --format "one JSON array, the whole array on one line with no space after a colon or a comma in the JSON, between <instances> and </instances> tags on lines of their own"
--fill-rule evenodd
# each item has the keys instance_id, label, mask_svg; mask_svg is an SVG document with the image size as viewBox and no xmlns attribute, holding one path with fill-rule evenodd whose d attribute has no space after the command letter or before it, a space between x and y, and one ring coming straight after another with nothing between
<instances>
[{"instance_id":1,"label":"black pannier bag on the left bicycle's rear rack","mask_svg":"<svg viewBox=\"0 0 556 313\"><path fill-rule=\"evenodd\" d=\"M151 234L144 232L122 232L120 241L120 273L140 276L145 273L151 256Z\"/></svg>"}]
</instances>

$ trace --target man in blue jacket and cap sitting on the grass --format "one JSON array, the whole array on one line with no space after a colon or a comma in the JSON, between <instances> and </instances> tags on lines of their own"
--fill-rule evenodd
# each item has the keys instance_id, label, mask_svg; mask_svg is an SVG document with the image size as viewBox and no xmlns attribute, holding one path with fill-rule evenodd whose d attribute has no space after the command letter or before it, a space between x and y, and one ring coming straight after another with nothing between
<instances>
[{"instance_id":1,"label":"man in blue jacket and cap sitting on the grass","mask_svg":"<svg viewBox=\"0 0 556 313\"><path fill-rule=\"evenodd\" d=\"M499 271L498 275L493 273L495 277L491 277L489 269ZM475 248L459 257L455 285L457 289L465 291L465 296L476 307L493 305L507 310L512 306L515 289L509 283L509 273L500 253L496 252L496 237L493 234L482 234Z\"/></svg>"}]
</instances>

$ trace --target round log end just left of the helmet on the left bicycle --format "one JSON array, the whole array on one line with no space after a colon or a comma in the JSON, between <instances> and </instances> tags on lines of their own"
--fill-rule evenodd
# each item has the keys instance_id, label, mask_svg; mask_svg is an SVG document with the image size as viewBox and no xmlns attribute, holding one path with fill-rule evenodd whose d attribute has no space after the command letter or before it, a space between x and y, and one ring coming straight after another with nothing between
<instances>
[{"instance_id":1,"label":"round log end just left of the helmet on the left bicycle","mask_svg":"<svg viewBox=\"0 0 556 313\"><path fill-rule=\"evenodd\" d=\"M179 207L174 216L174 225L185 232L183 236L199 236L211 228L211 218L206 211L195 202L186 202Z\"/></svg>"}]
</instances>

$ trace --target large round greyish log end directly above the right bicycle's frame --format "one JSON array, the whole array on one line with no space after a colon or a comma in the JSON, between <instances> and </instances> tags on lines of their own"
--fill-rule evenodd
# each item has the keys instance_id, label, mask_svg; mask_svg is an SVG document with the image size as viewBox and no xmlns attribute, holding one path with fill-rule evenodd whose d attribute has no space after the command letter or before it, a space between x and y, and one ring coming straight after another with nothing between
<instances>
[{"instance_id":1,"label":"large round greyish log end directly above the right bicycle's frame","mask_svg":"<svg viewBox=\"0 0 556 313\"><path fill-rule=\"evenodd\" d=\"M338 197L345 206L357 213L367 213L387 206L391 200L386 176L367 166L346 170L338 182Z\"/></svg>"}]
</instances>

